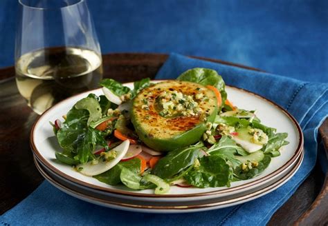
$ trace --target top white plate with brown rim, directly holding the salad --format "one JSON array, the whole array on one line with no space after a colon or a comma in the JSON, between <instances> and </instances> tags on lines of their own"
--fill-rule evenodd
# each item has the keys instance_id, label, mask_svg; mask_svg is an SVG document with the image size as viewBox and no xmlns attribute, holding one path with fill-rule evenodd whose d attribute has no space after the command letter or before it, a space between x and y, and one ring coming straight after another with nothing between
<instances>
[{"instance_id":1,"label":"top white plate with brown rim, directly holding the salad","mask_svg":"<svg viewBox=\"0 0 328 226\"><path fill-rule=\"evenodd\" d=\"M133 83L127 83L125 85L131 88ZM302 152L303 136L297 121L295 121L293 116L288 112L283 110L282 107L246 90L227 86L226 91L228 93L228 99L239 108L246 110L256 109L257 116L262 120L262 123L277 128L277 132L287 132L289 134L287 141L290 142L289 145L284 146L281 156L272 158L271 164L266 170L264 170L264 172L262 172L262 174L247 181L233 182L231 183L231 187L201 189L174 186L171 187L170 194L158 196L153 194L153 189L132 191L124 186L111 186L101 183L95 178L84 176L72 170L69 165L64 165L55 161L55 151L60 150L60 147L57 144L57 140L53 134L51 125L49 125L49 121L59 119L62 115L66 114L66 112L68 112L77 101L84 98L89 93L98 95L102 94L100 89L72 96L69 99L57 103L57 105L44 112L44 114L42 114L42 116L40 116L35 122L31 131L31 147L40 163L52 172L55 172L55 174L68 179L72 183L78 183L82 186L109 192L113 195L127 196L131 198L138 197L141 199L158 199L158 201L177 201L181 200L181 198L200 200L246 192L257 186L269 183L280 175L286 173Z\"/></svg>"}]
</instances>

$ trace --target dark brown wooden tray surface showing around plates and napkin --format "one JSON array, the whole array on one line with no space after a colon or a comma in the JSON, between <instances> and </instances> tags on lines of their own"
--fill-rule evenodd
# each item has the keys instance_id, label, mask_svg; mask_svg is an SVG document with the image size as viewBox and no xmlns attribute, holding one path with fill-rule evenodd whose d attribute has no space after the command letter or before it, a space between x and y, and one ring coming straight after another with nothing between
<instances>
[{"instance_id":1,"label":"dark brown wooden tray surface showing around plates and napkin","mask_svg":"<svg viewBox=\"0 0 328 226\"><path fill-rule=\"evenodd\" d=\"M104 77L129 82L154 78L167 54L120 53L102 57ZM216 59L205 60L258 70ZM29 143L30 128L38 115L19 95L13 76L13 67L0 69L0 214L17 205L44 181L33 163ZM320 127L320 161L268 225L328 225L327 134L328 120Z\"/></svg>"}]
</instances>

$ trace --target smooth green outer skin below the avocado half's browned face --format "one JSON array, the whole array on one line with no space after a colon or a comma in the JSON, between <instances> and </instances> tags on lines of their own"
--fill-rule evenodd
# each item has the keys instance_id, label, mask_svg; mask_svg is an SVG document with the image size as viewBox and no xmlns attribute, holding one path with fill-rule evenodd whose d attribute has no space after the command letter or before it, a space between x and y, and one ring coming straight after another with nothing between
<instances>
[{"instance_id":1,"label":"smooth green outer skin below the avocado half's browned face","mask_svg":"<svg viewBox=\"0 0 328 226\"><path fill-rule=\"evenodd\" d=\"M215 121L215 116L217 115L218 107L216 106L215 109L212 111L212 114L208 116L207 122L213 123ZM134 125L136 132L143 143L145 143L148 147L151 147L154 150L159 152L170 152L176 150L180 147L186 147L188 145L197 143L203 133L206 132L206 123L199 123L196 125L192 130L188 130L179 134L178 136L173 136L170 139L159 139L154 137L149 137L148 134L140 127L138 121L134 114L131 116L131 122ZM162 128L165 130L165 127Z\"/></svg>"}]
</instances>

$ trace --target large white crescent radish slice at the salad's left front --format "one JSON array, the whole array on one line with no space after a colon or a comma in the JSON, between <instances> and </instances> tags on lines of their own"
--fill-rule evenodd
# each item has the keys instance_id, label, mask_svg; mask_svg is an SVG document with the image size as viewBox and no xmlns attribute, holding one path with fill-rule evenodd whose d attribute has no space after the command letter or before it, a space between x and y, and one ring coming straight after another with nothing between
<instances>
[{"instance_id":1,"label":"large white crescent radish slice at the salad's left front","mask_svg":"<svg viewBox=\"0 0 328 226\"><path fill-rule=\"evenodd\" d=\"M98 158L98 163L93 164L92 161L77 165L76 168L79 170L81 174L86 176L95 176L98 174L102 174L107 170L110 170L114 167L120 160L127 154L127 150L129 149L130 141L123 141L117 147L114 147L113 150L116 151L116 158L113 158L111 161L102 161L102 158Z\"/></svg>"}]
</instances>

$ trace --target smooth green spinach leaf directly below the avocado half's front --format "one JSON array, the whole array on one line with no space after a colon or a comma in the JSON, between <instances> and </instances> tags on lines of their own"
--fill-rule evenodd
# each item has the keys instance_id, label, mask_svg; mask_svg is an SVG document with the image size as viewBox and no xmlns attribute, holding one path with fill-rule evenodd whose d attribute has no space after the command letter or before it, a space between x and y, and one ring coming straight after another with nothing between
<instances>
[{"instance_id":1,"label":"smooth green spinach leaf directly below the avocado half's front","mask_svg":"<svg viewBox=\"0 0 328 226\"><path fill-rule=\"evenodd\" d=\"M200 147L197 146L169 152L158 161L152 170L152 174L162 179L170 179L190 165L194 165L194 161L202 154Z\"/></svg>"}]
</instances>

